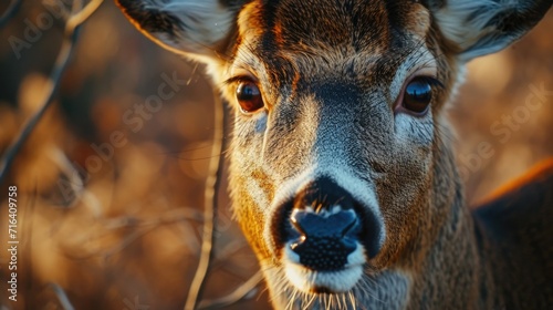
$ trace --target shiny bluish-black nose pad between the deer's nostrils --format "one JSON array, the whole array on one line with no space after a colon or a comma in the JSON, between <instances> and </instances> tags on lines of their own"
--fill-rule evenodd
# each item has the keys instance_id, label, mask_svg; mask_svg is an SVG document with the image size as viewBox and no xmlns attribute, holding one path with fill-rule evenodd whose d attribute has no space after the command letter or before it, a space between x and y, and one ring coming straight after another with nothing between
<instances>
[{"instance_id":1,"label":"shiny bluish-black nose pad between the deer's nostrils","mask_svg":"<svg viewBox=\"0 0 553 310\"><path fill-rule=\"evenodd\" d=\"M361 223L353 209L342 209L341 206L322 211L293 209L290 223L294 230L292 235L299 235L290 248L306 268L340 270L357 248Z\"/></svg>"}]
</instances>

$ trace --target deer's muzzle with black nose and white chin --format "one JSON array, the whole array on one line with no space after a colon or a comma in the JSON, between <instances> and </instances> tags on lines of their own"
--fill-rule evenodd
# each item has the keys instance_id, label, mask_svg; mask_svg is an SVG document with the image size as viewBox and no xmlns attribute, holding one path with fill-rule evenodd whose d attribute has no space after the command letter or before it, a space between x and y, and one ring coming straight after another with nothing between
<instances>
[{"instance_id":1,"label":"deer's muzzle with black nose and white chin","mask_svg":"<svg viewBox=\"0 0 553 310\"><path fill-rule=\"evenodd\" d=\"M351 290L382 247L374 207L326 176L295 193L273 218L286 277L306 292Z\"/></svg>"}]
</instances>

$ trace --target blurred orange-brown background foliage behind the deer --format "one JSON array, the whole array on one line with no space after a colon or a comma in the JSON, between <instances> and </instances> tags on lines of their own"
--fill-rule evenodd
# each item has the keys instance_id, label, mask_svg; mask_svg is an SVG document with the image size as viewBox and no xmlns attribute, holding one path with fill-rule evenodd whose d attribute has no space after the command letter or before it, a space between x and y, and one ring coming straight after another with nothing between
<instances>
[{"instance_id":1,"label":"blurred orange-brown background foliage behind the deer","mask_svg":"<svg viewBox=\"0 0 553 310\"><path fill-rule=\"evenodd\" d=\"M63 14L28 0L0 30L0 154L43 101L63 25ZM468 68L449 114L471 205L553 155L551 29L552 11L514 46ZM164 83L171 92L161 99ZM105 1L80 30L54 105L0 187L0 244L9 185L18 186L21 240L17 302L0 251L0 309L62 309L55 287L76 309L181 309L201 242L212 105L201 66L148 41ZM225 189L219 198L207 300L259 268ZM263 309L267 299L260 287L230 309Z\"/></svg>"}]
</instances>

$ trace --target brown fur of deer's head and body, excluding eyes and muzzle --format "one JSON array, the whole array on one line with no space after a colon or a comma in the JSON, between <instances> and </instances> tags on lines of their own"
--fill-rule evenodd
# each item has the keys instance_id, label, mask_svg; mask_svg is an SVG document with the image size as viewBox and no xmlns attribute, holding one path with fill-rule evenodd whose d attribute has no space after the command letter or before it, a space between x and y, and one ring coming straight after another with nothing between
<instances>
[{"instance_id":1,"label":"brown fur of deer's head and body, excluding eyes and muzzle","mask_svg":"<svg viewBox=\"0 0 553 310\"><path fill-rule=\"evenodd\" d=\"M161 45L206 61L223 97L237 107L230 155L233 208L276 308L553 304L553 226L546 223L553 218L553 165L471 214L444 116L465 62L520 38L551 1L498 9L489 21L486 13L495 8L490 1L481 2L489 8L456 12L461 18L450 19L441 17L448 13L444 8L455 8L449 1L221 2L236 23L220 30L223 39L206 38L194 49L178 44L197 27L184 24L182 12L156 10L163 3L154 0L145 1L154 2L148 12L139 1L117 2ZM179 24L167 24L179 17ZM479 18L486 29L461 37L448 32L448 22L462 29L478 24ZM159 37L167 29L170 40ZM390 92L395 73L410 69L401 66L405 62L426 65L409 59L417 50L431 55L444 87L432 92L430 117L409 118L394 112ZM237 83L225 83L237 75L259 85L264 111L240 113ZM274 200L302 172L333 163L374 186L386 239L375 257L366 257L363 279L348 293L300 292L284 276L283 245L272 224L279 213Z\"/></svg>"}]
</instances>

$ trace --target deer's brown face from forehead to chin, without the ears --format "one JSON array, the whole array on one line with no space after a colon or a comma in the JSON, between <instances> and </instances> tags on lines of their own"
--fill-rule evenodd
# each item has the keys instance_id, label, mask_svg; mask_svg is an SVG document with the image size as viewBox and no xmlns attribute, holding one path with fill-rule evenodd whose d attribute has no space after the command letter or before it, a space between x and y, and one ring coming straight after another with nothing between
<instances>
[{"instance_id":1,"label":"deer's brown face from forehead to chin, without the ears","mask_svg":"<svg viewBox=\"0 0 553 310\"><path fill-rule=\"evenodd\" d=\"M234 209L264 268L345 292L418 235L449 66L421 4L284 2L241 10L220 71Z\"/></svg>"}]
</instances>

